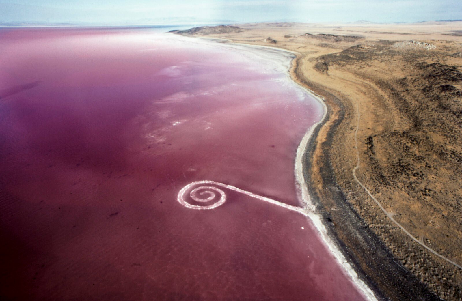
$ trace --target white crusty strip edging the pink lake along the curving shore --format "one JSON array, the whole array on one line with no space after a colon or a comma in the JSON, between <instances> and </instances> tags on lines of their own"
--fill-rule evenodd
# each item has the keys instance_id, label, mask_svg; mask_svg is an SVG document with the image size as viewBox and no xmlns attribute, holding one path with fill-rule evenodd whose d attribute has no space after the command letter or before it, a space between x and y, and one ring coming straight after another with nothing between
<instances>
[{"instance_id":1,"label":"white crusty strip edging the pink lake along the curving shore","mask_svg":"<svg viewBox=\"0 0 462 301\"><path fill-rule=\"evenodd\" d=\"M206 39L202 39L206 40ZM209 42L213 42L212 39L207 39ZM215 41L216 42L216 41ZM334 258L340 263L343 270L345 271L346 275L348 275L353 283L357 286L359 291L364 295L364 297L368 300L377 300L376 296L374 295L373 291L367 286L367 284L359 278L356 271L354 271L353 266L350 262L345 258L343 253L340 250L339 244L334 241L334 239L328 235L328 231L326 225L324 224L322 217L316 214L316 207L311 201L310 193L308 191L308 185L304 181L303 175L303 158L305 155L305 151L307 149L308 143L310 142L310 138L313 135L317 126L320 126L327 115L327 106L324 102L324 97L317 95L313 91L305 88L304 86L298 84L291 76L290 76L290 68L292 67L292 61L296 58L296 52L292 52L286 49L275 48L275 47L268 47L268 46L260 46L260 45L250 45L250 44L243 44L243 43L219 43L220 45L231 47L234 49L238 49L243 52L251 52L255 55L255 50L259 52L258 56L260 58L265 58L266 60L272 60L273 64L277 64L278 67L276 70L280 72L285 72L286 76L290 78L290 81L298 86L299 89L304 90L304 92L311 97L315 98L323 107L323 115L321 120L319 120L316 124L310 126L308 131L303 136L300 144L297 148L297 154L295 157L295 178L297 181L298 187L298 194L299 200L302 202L305 209L308 209L308 216L316 227L319 235L321 236L322 240L328 247L331 254Z\"/></svg>"}]
</instances>

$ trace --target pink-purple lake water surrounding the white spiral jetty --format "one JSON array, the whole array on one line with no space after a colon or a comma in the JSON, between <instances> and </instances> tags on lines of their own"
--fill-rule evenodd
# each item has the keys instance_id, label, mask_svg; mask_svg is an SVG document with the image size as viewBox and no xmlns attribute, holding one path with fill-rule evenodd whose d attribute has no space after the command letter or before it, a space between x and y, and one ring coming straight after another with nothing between
<instances>
[{"instance_id":1,"label":"pink-purple lake water surrounding the white spiral jetty","mask_svg":"<svg viewBox=\"0 0 462 301\"><path fill-rule=\"evenodd\" d=\"M361 300L301 206L323 108L290 54L147 29L0 30L0 296ZM193 204L200 202L192 201Z\"/></svg>"}]
</instances>

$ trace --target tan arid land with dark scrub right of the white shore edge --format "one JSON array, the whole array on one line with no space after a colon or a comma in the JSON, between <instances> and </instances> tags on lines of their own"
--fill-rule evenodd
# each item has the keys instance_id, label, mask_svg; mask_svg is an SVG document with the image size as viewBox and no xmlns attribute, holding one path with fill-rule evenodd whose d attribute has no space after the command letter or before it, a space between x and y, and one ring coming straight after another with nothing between
<instances>
[{"instance_id":1,"label":"tan arid land with dark scrub right of the white shore edge","mask_svg":"<svg viewBox=\"0 0 462 301\"><path fill-rule=\"evenodd\" d=\"M306 181L365 280L460 300L462 22L237 26L183 34L297 54L292 77L328 106Z\"/></svg>"}]
</instances>

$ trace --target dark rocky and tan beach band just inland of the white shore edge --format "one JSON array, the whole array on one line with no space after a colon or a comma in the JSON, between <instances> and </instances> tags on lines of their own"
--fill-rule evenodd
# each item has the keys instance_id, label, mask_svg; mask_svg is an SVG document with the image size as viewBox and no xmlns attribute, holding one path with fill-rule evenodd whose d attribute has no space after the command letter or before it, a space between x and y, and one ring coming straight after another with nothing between
<instances>
[{"instance_id":1,"label":"dark rocky and tan beach band just inland of the white shore edge","mask_svg":"<svg viewBox=\"0 0 462 301\"><path fill-rule=\"evenodd\" d=\"M324 122L315 129L307 144L304 176L310 187L312 201L316 204L316 212L324 219L329 235L338 242L344 256L378 299L440 300L417 277L403 268L383 241L370 231L337 185L328 151L322 150L331 147L334 132L345 118L345 106L332 93L304 78L297 61L291 73L294 80L322 95L328 106ZM327 130L327 135L320 142L318 134L322 127ZM313 162L321 168L315 169ZM314 174L319 175L320 179L313 177ZM318 181L323 184L319 185ZM316 189L320 186L324 189ZM329 210L332 208L335 210Z\"/></svg>"}]
</instances>

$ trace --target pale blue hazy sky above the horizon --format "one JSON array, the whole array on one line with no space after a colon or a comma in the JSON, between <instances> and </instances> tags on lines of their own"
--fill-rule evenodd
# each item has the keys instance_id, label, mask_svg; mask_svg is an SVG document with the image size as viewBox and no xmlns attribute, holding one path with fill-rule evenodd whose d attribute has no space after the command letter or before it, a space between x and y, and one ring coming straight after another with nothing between
<instances>
[{"instance_id":1,"label":"pale blue hazy sky above the horizon","mask_svg":"<svg viewBox=\"0 0 462 301\"><path fill-rule=\"evenodd\" d=\"M462 19L461 0L0 0L0 21L106 24L418 22Z\"/></svg>"}]
</instances>

